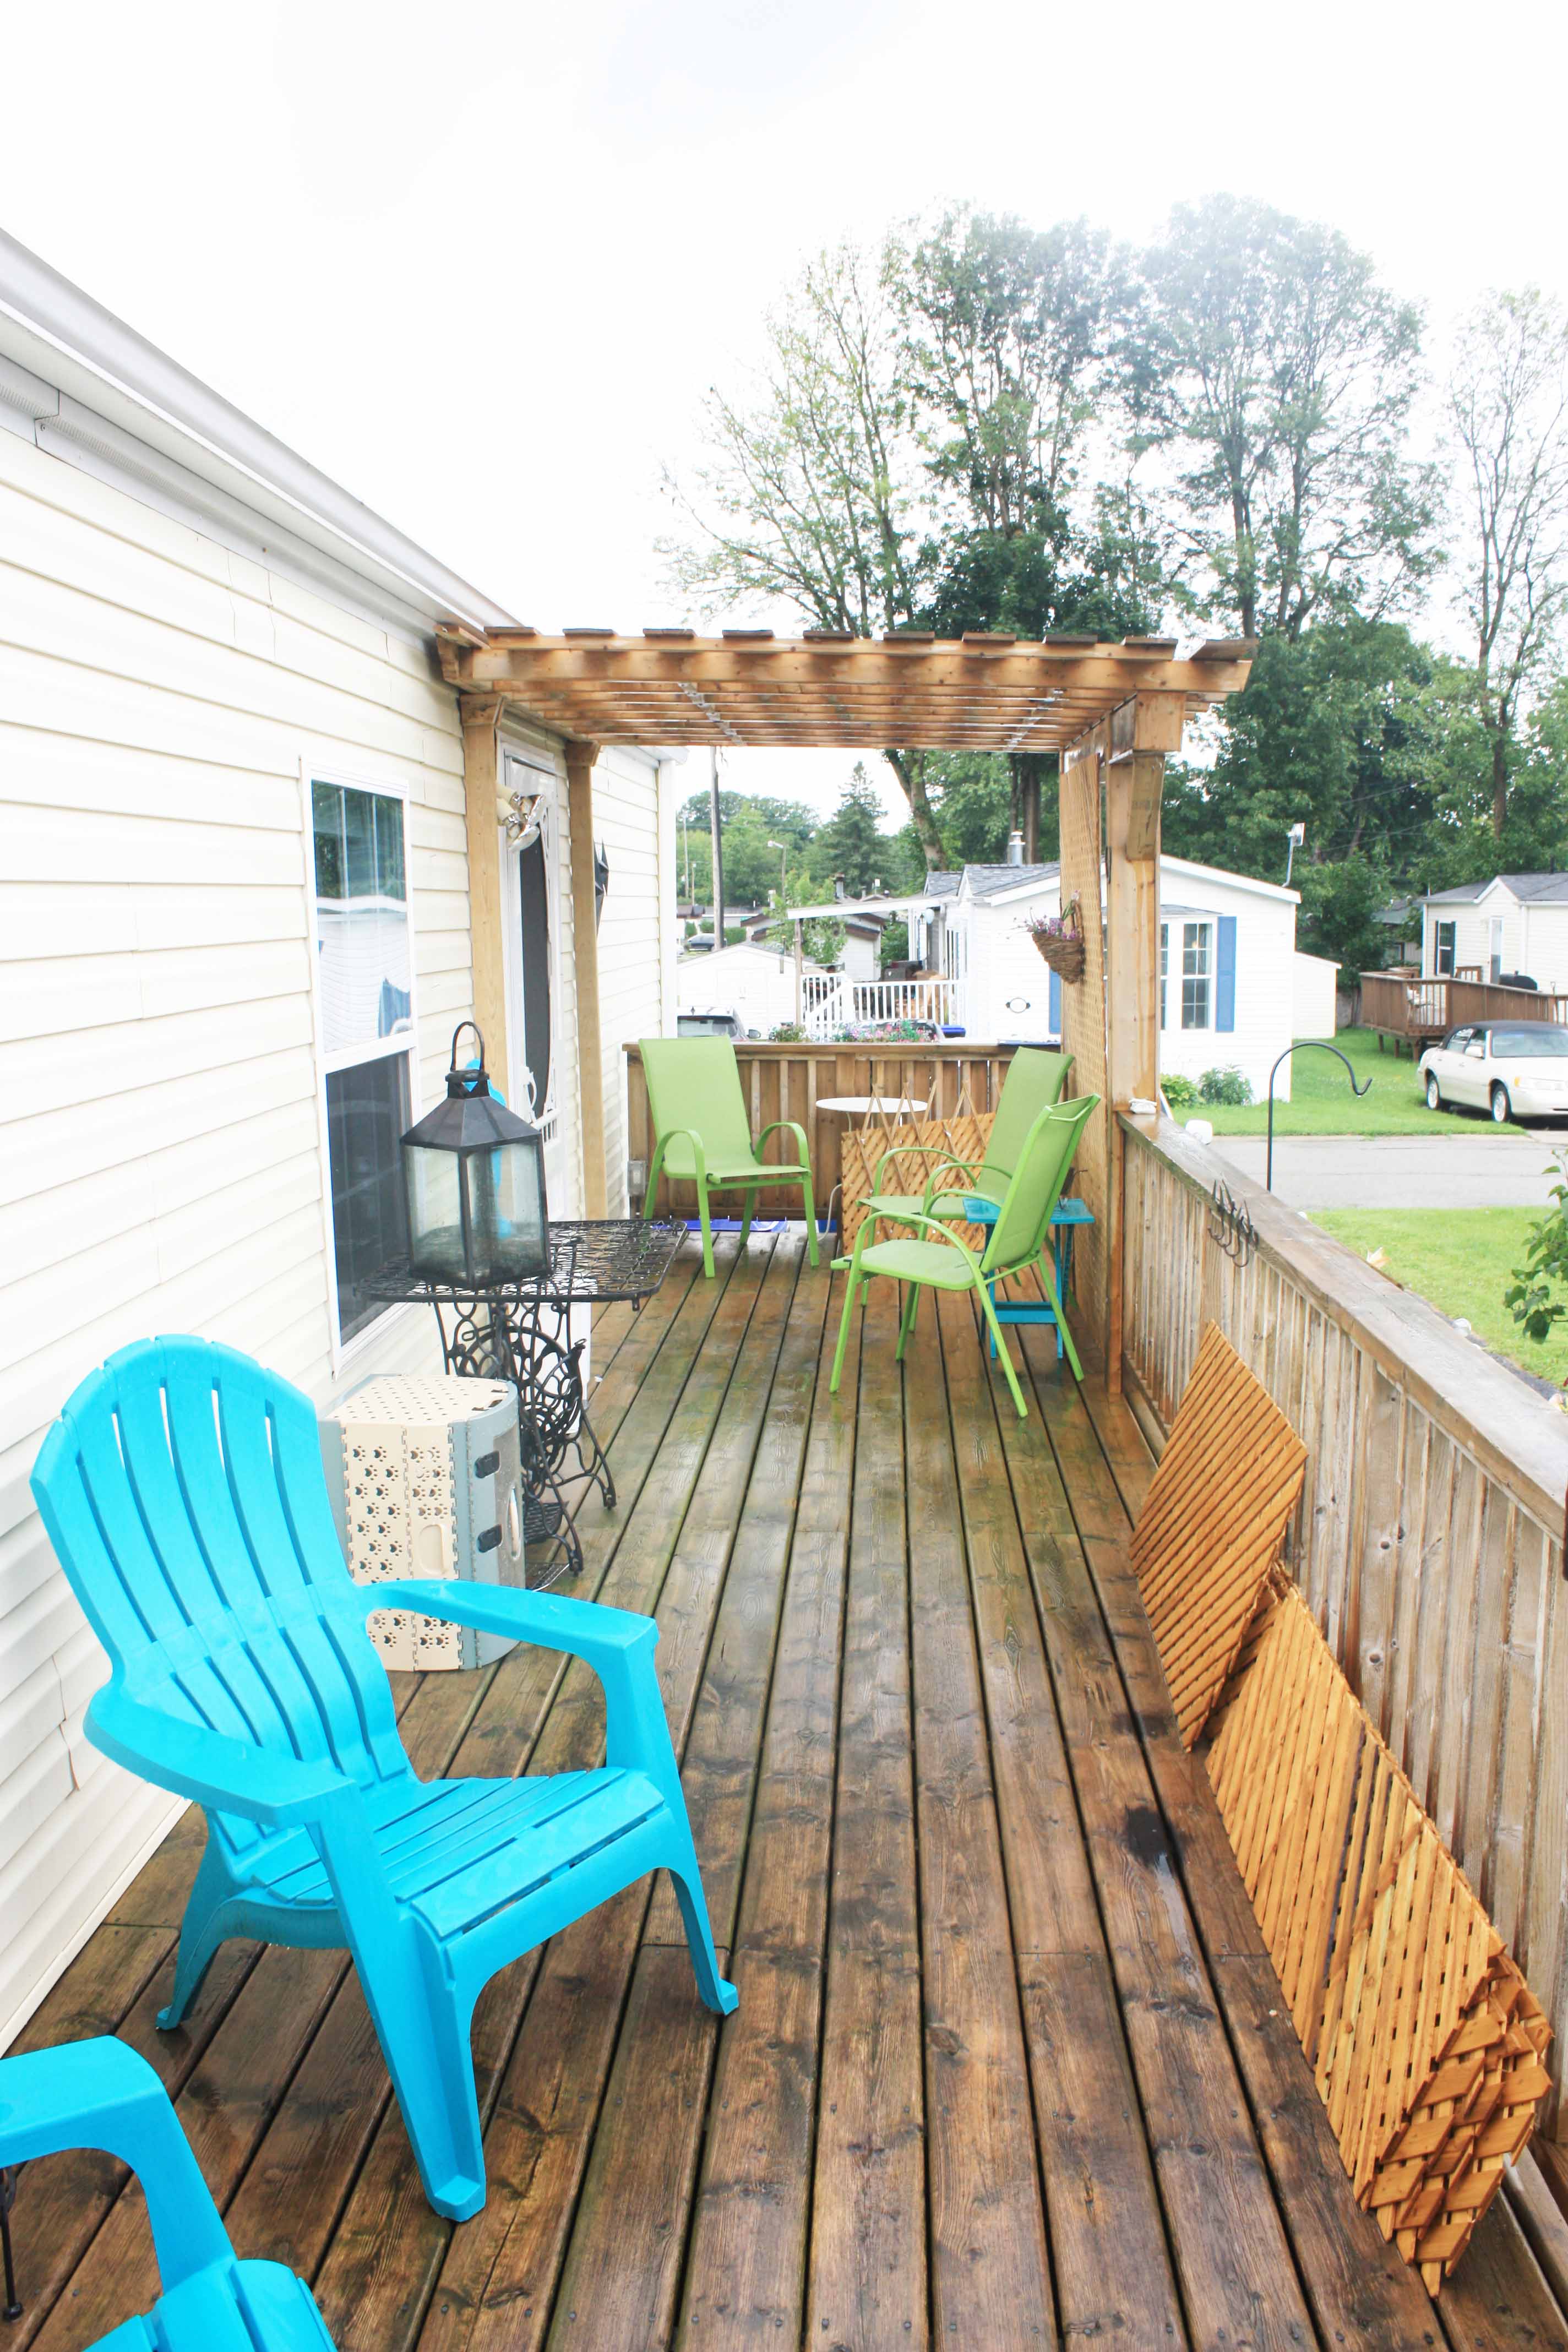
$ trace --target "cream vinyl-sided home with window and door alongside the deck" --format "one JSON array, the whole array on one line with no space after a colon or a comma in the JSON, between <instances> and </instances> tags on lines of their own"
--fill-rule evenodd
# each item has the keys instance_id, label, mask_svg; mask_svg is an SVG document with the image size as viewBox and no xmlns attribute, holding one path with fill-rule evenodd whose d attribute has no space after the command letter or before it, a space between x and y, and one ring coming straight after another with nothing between
<instances>
[{"instance_id":1,"label":"cream vinyl-sided home with window and door alongside the deck","mask_svg":"<svg viewBox=\"0 0 1568 2352\"><path fill-rule=\"evenodd\" d=\"M179 1811L82 1738L106 1668L31 1508L42 1432L155 1331L322 1404L430 1359L428 1310L362 1279L482 922L550 1207L625 1209L621 1047L675 1025L675 771L607 750L569 786L555 736L465 731L435 623L501 607L5 238L0 600L2 2046ZM527 847L498 795L536 802Z\"/></svg>"}]
</instances>

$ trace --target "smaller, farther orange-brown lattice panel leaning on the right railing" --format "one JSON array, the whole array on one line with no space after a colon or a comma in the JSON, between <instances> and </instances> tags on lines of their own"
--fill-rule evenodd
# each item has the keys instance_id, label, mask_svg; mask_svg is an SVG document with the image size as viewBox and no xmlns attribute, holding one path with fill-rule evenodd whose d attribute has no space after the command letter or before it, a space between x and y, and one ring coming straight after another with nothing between
<instances>
[{"instance_id":1,"label":"smaller, farther orange-brown lattice panel leaning on the right railing","mask_svg":"<svg viewBox=\"0 0 1568 2352\"><path fill-rule=\"evenodd\" d=\"M1208 1324L1131 1548L1182 1748L1237 1663L1305 1465L1286 1416Z\"/></svg>"}]
</instances>

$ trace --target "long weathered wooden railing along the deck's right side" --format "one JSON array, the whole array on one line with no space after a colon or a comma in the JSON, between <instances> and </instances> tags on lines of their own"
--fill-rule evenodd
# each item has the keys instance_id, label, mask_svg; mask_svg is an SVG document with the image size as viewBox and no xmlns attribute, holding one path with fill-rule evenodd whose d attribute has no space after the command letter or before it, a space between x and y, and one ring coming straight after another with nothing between
<instances>
[{"instance_id":1,"label":"long weathered wooden railing along the deck's right side","mask_svg":"<svg viewBox=\"0 0 1568 2352\"><path fill-rule=\"evenodd\" d=\"M1121 1122L1124 1383L1159 1449L1206 1322L1305 1439L1291 1573L1568 2058L1568 1418L1171 1122ZM1211 1232L1215 1178L1258 1230ZM1547 2129L1568 2138L1568 2105Z\"/></svg>"}]
</instances>

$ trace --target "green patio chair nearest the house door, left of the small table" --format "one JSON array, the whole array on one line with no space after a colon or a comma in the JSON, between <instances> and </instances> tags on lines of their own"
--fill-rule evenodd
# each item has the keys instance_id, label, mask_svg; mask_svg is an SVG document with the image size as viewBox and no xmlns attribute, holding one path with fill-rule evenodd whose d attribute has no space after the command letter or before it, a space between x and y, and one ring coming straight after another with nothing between
<instances>
[{"instance_id":1,"label":"green patio chair nearest the house door, left of the small table","mask_svg":"<svg viewBox=\"0 0 1568 2352\"><path fill-rule=\"evenodd\" d=\"M741 1218L741 1240L745 1240L752 1230L759 1185L799 1185L806 1207L806 1249L816 1265L816 1200L811 1197L806 1129L797 1120L773 1120L752 1141L741 1094L741 1065L729 1037L644 1037L639 1054L654 1117L654 1157L649 1160L649 1190L642 1200L644 1218L654 1214L661 1169L665 1176L696 1183L703 1272L712 1275L708 1195L745 1195ZM762 1160L762 1145L780 1127L788 1127L799 1143L799 1167L788 1162L773 1167Z\"/></svg>"}]
</instances>

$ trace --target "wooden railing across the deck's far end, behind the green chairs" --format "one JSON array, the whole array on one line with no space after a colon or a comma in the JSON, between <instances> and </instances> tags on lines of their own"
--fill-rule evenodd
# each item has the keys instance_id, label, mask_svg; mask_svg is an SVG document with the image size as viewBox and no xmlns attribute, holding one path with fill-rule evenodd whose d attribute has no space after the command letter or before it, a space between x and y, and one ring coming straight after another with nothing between
<instances>
[{"instance_id":1,"label":"wooden railing across the deck's far end, behind the green chairs","mask_svg":"<svg viewBox=\"0 0 1568 2352\"><path fill-rule=\"evenodd\" d=\"M1013 1058L1011 1047L994 1044L757 1044L736 1042L741 1063L741 1087L748 1101L752 1134L771 1127L773 1120L799 1120L811 1145L811 1169L816 1176L818 1207L827 1204L839 1183L839 1143L846 1120L839 1110L818 1110L823 1096L879 1094L889 1115L900 1101L924 1101L922 1117L954 1117L961 1110L994 1110L1001 1075ZM625 1094L628 1094L628 1155L646 1169L654 1152L649 1127L649 1096L642 1082L642 1054L625 1047ZM771 1136L764 1157L785 1160L788 1136ZM637 1192L632 1195L639 1207ZM661 1178L661 1211L696 1216L696 1195L689 1183L670 1185ZM724 1204L729 1207L729 1204ZM799 1216L799 1188L790 1192L759 1192L757 1209L764 1216Z\"/></svg>"}]
</instances>

